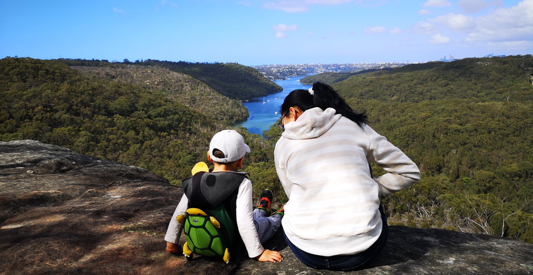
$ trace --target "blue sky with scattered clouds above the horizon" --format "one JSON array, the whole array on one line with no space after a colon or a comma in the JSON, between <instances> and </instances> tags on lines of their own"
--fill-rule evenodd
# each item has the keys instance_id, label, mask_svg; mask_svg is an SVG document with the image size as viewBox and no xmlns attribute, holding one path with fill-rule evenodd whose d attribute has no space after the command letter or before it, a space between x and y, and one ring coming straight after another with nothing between
<instances>
[{"instance_id":1,"label":"blue sky with scattered clouds above the horizon","mask_svg":"<svg viewBox=\"0 0 533 275\"><path fill-rule=\"evenodd\" d=\"M533 0L0 0L0 58L266 64L533 53Z\"/></svg>"}]
</instances>

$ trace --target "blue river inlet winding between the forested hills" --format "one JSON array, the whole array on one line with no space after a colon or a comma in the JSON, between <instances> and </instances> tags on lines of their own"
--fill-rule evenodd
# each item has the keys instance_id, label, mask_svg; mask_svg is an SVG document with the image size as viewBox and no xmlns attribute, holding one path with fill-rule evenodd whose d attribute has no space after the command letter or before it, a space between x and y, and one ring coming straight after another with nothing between
<instances>
[{"instance_id":1,"label":"blue river inlet winding between the forested hills","mask_svg":"<svg viewBox=\"0 0 533 275\"><path fill-rule=\"evenodd\" d=\"M291 77L285 80L276 80L275 84L280 85L283 88L283 91L267 95L264 99L263 97L258 97L249 100L249 102L243 102L244 106L248 108L250 116L246 122L237 125L246 127L250 133L263 135L263 131L270 129L270 126L281 117L281 104L291 91L301 88L311 88L311 85L303 85L300 83L300 79L302 78L303 77Z\"/></svg>"}]
</instances>

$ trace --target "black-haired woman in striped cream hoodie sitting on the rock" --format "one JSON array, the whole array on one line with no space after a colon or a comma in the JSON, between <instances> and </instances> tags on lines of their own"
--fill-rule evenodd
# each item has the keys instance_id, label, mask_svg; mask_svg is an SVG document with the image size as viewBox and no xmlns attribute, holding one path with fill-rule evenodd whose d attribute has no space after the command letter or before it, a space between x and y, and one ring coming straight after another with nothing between
<instances>
[{"instance_id":1,"label":"black-haired woman in striped cream hoodie sitting on the rock","mask_svg":"<svg viewBox=\"0 0 533 275\"><path fill-rule=\"evenodd\" d=\"M281 114L274 157L289 198L282 220L287 244L310 267L361 269L387 240L379 196L415 184L417 165L326 84L292 91ZM372 178L369 163L388 173Z\"/></svg>"}]
</instances>

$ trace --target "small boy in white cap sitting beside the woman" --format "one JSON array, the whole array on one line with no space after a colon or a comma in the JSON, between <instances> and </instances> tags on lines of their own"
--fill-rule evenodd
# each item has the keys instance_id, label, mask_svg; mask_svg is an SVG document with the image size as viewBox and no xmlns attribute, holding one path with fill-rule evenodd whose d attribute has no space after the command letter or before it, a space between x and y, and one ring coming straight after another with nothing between
<instances>
[{"instance_id":1,"label":"small boy in white cap sitting beside the woman","mask_svg":"<svg viewBox=\"0 0 533 275\"><path fill-rule=\"evenodd\" d=\"M234 195L236 194L236 200L231 202L231 196L229 196L230 199L224 199L224 203L235 208L237 229L248 256L261 262L280 262L283 258L279 252L264 249L261 244L269 240L280 227L283 210L280 209L270 216L270 202L272 200L272 192L270 190L263 191L258 208L253 210L252 182L244 177L245 173L237 172L242 168L245 153L250 153L250 148L244 143L244 138L237 131L224 130L216 133L210 142L207 154L209 162L213 162L215 168L211 173L207 173L207 176L202 176L201 180L204 180L204 184L207 184L207 186L213 187L213 190L218 191L201 194L201 196L208 197L208 199L218 196L218 193L224 193L224 187L229 187L230 180L233 180L233 184L235 184L235 179L240 180L240 184L236 182L239 186L233 192ZM165 235L169 253L181 253L179 237L183 226L177 222L176 217L186 213L190 206L190 200L193 200L191 204L198 201L198 196L191 194L190 189L187 187L188 185L184 184L183 196L176 211L174 211ZM217 189L220 187L222 189ZM204 197L201 200L206 201ZM215 198L214 200L219 201L220 198L218 200ZM228 211L233 211L233 209L228 209Z\"/></svg>"}]
</instances>

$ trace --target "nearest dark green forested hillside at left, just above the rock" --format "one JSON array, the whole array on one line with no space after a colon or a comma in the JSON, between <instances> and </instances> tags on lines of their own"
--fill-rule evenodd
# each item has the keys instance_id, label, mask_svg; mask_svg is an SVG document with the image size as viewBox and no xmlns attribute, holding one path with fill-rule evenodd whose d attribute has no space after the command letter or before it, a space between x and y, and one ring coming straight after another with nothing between
<instances>
[{"instance_id":1,"label":"nearest dark green forested hillside at left, just above the rock","mask_svg":"<svg viewBox=\"0 0 533 275\"><path fill-rule=\"evenodd\" d=\"M161 92L87 77L57 61L1 59L0 98L1 141L66 146L150 169L175 184L207 161L213 134L230 128ZM260 136L242 133L253 149L246 164L267 161Z\"/></svg>"}]
</instances>

